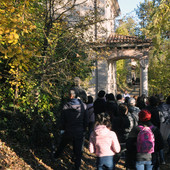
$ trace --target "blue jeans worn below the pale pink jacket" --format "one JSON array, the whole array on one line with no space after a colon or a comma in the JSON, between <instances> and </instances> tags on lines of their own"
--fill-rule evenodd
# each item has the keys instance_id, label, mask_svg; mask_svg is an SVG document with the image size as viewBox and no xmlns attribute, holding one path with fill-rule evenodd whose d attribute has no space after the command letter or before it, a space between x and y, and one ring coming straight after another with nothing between
<instances>
[{"instance_id":1,"label":"blue jeans worn below the pale pink jacket","mask_svg":"<svg viewBox=\"0 0 170 170\"><path fill-rule=\"evenodd\" d=\"M114 156L97 157L97 170L103 169L113 170L114 169L113 157Z\"/></svg>"}]
</instances>

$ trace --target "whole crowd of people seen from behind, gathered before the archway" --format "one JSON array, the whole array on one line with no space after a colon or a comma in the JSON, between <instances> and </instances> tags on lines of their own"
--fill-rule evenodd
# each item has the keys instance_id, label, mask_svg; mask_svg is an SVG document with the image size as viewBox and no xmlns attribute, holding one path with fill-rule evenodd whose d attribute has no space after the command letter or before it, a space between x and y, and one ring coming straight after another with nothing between
<instances>
[{"instance_id":1,"label":"whole crowd of people seen from behind, gathered before the archway","mask_svg":"<svg viewBox=\"0 0 170 170\"><path fill-rule=\"evenodd\" d=\"M94 169L113 170L124 157L126 169L158 170L165 164L165 144L170 152L170 96L166 101L159 96L131 97L127 92L115 97L100 90L93 101L73 87L62 109L60 132L54 157L59 158L72 142L75 170L81 167L85 138L90 153L96 155Z\"/></svg>"}]
</instances>

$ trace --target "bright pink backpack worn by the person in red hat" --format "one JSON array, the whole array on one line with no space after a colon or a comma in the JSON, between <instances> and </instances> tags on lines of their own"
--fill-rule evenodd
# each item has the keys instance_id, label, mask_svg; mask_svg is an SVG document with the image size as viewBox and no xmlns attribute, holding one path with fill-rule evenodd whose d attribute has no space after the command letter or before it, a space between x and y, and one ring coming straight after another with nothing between
<instances>
[{"instance_id":1,"label":"bright pink backpack worn by the person in red hat","mask_svg":"<svg viewBox=\"0 0 170 170\"><path fill-rule=\"evenodd\" d=\"M139 125L140 132L137 136L137 152L138 153L153 153L155 146L155 138L152 132L153 125L144 127Z\"/></svg>"}]
</instances>

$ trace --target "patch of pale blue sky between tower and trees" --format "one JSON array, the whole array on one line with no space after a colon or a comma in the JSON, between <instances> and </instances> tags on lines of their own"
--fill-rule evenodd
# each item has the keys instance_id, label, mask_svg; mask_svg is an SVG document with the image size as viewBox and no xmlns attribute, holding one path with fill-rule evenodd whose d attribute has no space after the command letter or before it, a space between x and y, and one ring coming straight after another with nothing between
<instances>
[{"instance_id":1,"label":"patch of pale blue sky between tower and trees","mask_svg":"<svg viewBox=\"0 0 170 170\"><path fill-rule=\"evenodd\" d=\"M140 2L144 2L144 0L118 0L120 10L121 10L121 16L123 17L125 15L135 15L134 11L135 8L140 4Z\"/></svg>"}]
</instances>

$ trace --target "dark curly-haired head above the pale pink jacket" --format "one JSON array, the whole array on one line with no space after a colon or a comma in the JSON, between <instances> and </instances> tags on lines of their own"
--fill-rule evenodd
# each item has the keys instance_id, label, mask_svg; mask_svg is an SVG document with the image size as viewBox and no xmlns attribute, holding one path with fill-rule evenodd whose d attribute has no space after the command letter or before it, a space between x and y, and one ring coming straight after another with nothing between
<instances>
[{"instance_id":1,"label":"dark curly-haired head above the pale pink jacket","mask_svg":"<svg viewBox=\"0 0 170 170\"><path fill-rule=\"evenodd\" d=\"M107 128L111 129L110 116L104 112L97 114L95 126L98 125L105 125Z\"/></svg>"}]
</instances>

